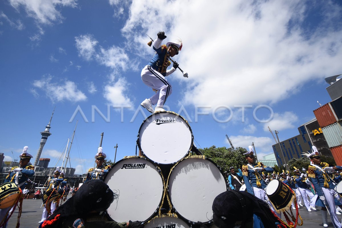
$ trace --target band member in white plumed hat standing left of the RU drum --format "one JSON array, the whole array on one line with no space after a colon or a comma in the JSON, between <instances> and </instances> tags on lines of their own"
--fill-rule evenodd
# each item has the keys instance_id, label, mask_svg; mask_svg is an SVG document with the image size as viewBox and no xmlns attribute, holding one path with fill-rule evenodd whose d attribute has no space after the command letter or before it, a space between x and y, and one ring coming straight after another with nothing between
<instances>
[{"instance_id":1,"label":"band member in white plumed hat standing left of the RU drum","mask_svg":"<svg viewBox=\"0 0 342 228\"><path fill-rule=\"evenodd\" d=\"M258 164L254 163L254 155L253 155L253 147L249 146L249 151L244 153L246 159L248 161L247 165L242 165L242 175L244 176L246 189L247 191L258 197L261 200L265 200L265 190L266 183L263 180L261 174L259 172L273 172L273 169L270 167L264 166L262 163L258 162Z\"/></svg>"}]
</instances>

